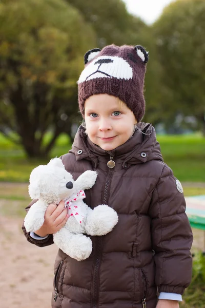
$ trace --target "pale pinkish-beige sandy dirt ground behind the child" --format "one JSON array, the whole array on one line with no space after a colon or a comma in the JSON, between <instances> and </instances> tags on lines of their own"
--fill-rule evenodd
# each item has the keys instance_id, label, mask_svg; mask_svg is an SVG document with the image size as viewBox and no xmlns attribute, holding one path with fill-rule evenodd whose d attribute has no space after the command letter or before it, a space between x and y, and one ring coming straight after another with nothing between
<instances>
[{"instance_id":1,"label":"pale pinkish-beige sandy dirt ground behind the child","mask_svg":"<svg viewBox=\"0 0 205 308\"><path fill-rule=\"evenodd\" d=\"M30 202L27 184L2 183L0 194L0 307L51 308L57 247L32 245L22 232L24 208ZM20 200L22 196L26 199ZM193 248L201 249L204 232L193 232Z\"/></svg>"}]
</instances>

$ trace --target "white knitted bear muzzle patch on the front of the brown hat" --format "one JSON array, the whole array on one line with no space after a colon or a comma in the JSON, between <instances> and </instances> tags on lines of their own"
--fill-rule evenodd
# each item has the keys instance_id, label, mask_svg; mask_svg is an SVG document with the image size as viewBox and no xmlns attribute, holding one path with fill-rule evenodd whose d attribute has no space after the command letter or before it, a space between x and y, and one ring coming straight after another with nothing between
<instances>
[{"instance_id":1,"label":"white knitted bear muzzle patch on the front of the brown hat","mask_svg":"<svg viewBox=\"0 0 205 308\"><path fill-rule=\"evenodd\" d=\"M96 78L117 78L129 80L133 77L130 64L121 57L103 55L85 67L78 80L79 83Z\"/></svg>"}]
</instances>

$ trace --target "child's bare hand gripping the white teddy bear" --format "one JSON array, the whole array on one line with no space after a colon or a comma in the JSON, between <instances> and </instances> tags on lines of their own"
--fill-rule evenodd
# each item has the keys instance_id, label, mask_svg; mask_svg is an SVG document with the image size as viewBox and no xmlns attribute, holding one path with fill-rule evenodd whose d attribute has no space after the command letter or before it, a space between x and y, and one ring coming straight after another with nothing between
<instances>
[{"instance_id":1,"label":"child's bare hand gripping the white teddy bear","mask_svg":"<svg viewBox=\"0 0 205 308\"><path fill-rule=\"evenodd\" d=\"M45 237L48 234L56 233L65 225L69 216L67 207L64 209L65 202L60 201L59 205L49 204L46 213L45 221L39 230L35 231L40 237Z\"/></svg>"}]
</instances>

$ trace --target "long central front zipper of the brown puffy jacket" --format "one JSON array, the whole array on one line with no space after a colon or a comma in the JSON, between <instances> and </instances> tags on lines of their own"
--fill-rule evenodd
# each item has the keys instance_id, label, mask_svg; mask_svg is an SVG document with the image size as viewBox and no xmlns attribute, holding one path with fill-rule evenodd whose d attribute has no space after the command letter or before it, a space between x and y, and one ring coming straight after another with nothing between
<instances>
[{"instance_id":1,"label":"long central front zipper of the brown puffy jacket","mask_svg":"<svg viewBox=\"0 0 205 308\"><path fill-rule=\"evenodd\" d=\"M102 204L107 204L108 200L108 191L109 191L109 184L112 178L112 173L113 169L108 170L107 173L107 179L106 179L106 184L105 184L105 189L104 189L104 197L103 197L103 203ZM101 257L101 247L103 244L103 238L102 237L97 237L97 243L96 243L96 261L94 265L94 279L93 279L93 284L94 284L94 291L93 291L93 308L97 308L98 306L98 299L99 299L99 267L100 267L100 257Z\"/></svg>"}]
</instances>

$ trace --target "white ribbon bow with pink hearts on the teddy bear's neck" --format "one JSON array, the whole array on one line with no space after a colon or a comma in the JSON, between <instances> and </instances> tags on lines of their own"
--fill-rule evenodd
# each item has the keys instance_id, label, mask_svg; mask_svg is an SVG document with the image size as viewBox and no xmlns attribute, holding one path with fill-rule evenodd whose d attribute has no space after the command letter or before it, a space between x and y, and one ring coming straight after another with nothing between
<instances>
[{"instance_id":1,"label":"white ribbon bow with pink hearts on the teddy bear's neck","mask_svg":"<svg viewBox=\"0 0 205 308\"><path fill-rule=\"evenodd\" d=\"M81 223L86 215L85 211L81 208L81 202L86 198L84 190L71 195L65 200L65 208L68 207L68 215L74 216L77 222Z\"/></svg>"}]
</instances>

